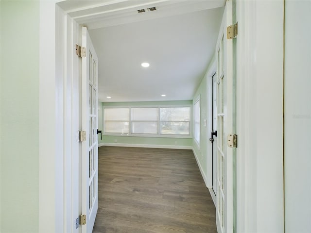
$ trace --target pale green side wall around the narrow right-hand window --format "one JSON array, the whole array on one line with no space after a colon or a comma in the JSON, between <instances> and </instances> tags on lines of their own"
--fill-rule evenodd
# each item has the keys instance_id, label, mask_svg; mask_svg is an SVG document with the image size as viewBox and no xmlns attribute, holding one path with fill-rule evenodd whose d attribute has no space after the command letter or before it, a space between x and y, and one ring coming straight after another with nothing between
<instances>
[{"instance_id":1,"label":"pale green side wall around the narrow right-hand window","mask_svg":"<svg viewBox=\"0 0 311 233\"><path fill-rule=\"evenodd\" d=\"M207 126L204 126L204 120L207 120L207 76L202 79L193 99L193 104L200 97L200 147L193 139L193 150L197 155L204 173L207 174ZM194 127L192 127L194 128Z\"/></svg>"}]
</instances>

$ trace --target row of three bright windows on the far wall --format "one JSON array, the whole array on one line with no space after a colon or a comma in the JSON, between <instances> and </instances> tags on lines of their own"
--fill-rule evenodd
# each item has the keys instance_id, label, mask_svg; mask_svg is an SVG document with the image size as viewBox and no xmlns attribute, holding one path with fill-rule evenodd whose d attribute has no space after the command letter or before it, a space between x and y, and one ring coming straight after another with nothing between
<instances>
[{"instance_id":1,"label":"row of three bright windows on the far wall","mask_svg":"<svg viewBox=\"0 0 311 233\"><path fill-rule=\"evenodd\" d=\"M190 136L190 107L104 108L104 133Z\"/></svg>"}]
</instances>

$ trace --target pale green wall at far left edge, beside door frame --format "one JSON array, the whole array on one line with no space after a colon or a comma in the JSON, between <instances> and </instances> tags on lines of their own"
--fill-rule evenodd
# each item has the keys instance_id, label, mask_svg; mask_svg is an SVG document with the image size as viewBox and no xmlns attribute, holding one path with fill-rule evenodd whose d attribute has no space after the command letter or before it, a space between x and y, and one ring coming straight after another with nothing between
<instances>
[{"instance_id":1,"label":"pale green wall at far left edge, beside door frame","mask_svg":"<svg viewBox=\"0 0 311 233\"><path fill-rule=\"evenodd\" d=\"M0 232L38 232L39 1L0 1Z\"/></svg>"}]
</instances>

